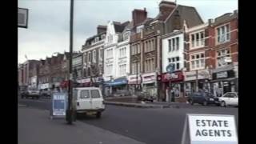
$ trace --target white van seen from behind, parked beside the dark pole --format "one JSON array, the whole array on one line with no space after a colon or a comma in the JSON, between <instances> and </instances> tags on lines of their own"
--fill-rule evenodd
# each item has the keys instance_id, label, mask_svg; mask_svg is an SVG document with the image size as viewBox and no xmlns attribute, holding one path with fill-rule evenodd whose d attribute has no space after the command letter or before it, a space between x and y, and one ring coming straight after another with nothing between
<instances>
[{"instance_id":1,"label":"white van seen from behind, parked beside the dark pole","mask_svg":"<svg viewBox=\"0 0 256 144\"><path fill-rule=\"evenodd\" d=\"M102 92L98 87L77 87L73 89L77 113L95 114L100 118L105 110Z\"/></svg>"}]
</instances>

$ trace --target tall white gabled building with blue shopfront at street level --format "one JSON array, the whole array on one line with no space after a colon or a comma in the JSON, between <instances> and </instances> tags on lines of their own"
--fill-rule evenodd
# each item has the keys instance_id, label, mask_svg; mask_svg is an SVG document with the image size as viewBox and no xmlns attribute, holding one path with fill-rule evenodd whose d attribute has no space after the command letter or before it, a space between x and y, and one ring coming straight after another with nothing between
<instances>
[{"instance_id":1,"label":"tall white gabled building with blue shopfront at street level","mask_svg":"<svg viewBox=\"0 0 256 144\"><path fill-rule=\"evenodd\" d=\"M130 72L129 24L113 21L107 24L103 74L106 95L127 86L127 74Z\"/></svg>"}]
</instances>

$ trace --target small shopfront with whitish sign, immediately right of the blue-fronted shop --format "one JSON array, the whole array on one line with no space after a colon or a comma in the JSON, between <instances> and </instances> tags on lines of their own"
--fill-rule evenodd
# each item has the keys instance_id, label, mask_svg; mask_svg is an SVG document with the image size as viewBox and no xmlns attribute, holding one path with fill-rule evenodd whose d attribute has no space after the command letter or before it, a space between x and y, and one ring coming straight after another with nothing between
<instances>
[{"instance_id":1,"label":"small shopfront with whitish sign, immediately right of the blue-fronted shop","mask_svg":"<svg viewBox=\"0 0 256 144\"><path fill-rule=\"evenodd\" d=\"M141 90L142 87L142 78L140 75L129 75L128 76L128 87L130 92L134 94L135 90L137 89L138 91Z\"/></svg>"}]
</instances>

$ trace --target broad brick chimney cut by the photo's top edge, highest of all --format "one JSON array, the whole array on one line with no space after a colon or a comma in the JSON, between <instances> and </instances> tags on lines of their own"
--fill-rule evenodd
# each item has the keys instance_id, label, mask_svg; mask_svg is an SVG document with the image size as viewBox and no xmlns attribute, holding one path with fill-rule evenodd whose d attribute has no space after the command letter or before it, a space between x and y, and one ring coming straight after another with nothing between
<instances>
[{"instance_id":1,"label":"broad brick chimney cut by the photo's top edge, highest of all","mask_svg":"<svg viewBox=\"0 0 256 144\"><path fill-rule=\"evenodd\" d=\"M163 15L170 14L176 6L175 2L162 1L159 3L159 12Z\"/></svg>"}]
</instances>

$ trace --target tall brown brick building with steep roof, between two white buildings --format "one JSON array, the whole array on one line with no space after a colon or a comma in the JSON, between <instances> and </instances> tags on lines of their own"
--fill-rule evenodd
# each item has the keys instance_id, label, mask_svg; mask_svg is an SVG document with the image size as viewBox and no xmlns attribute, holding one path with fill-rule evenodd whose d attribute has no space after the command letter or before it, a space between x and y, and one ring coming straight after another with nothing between
<instances>
[{"instance_id":1,"label":"tall brown brick building with steep roof, between two white buildings","mask_svg":"<svg viewBox=\"0 0 256 144\"><path fill-rule=\"evenodd\" d=\"M136 66L139 66L138 74L142 79L140 85L142 90L152 96L158 95L158 100L164 100L166 87L169 84L163 78L158 79L158 75L166 77L165 73L162 74L162 69L166 69L162 67L162 35L182 29L184 21L187 27L202 24L202 18L194 7L176 5L167 1L160 2L159 14L156 18L146 18L146 14L142 14L141 10L137 11L133 16L144 15L138 17L144 19L141 23L135 23L134 33L131 35L131 71L133 74L137 69ZM133 17L134 22L138 22L134 20L136 18Z\"/></svg>"}]
</instances>

